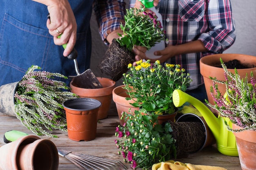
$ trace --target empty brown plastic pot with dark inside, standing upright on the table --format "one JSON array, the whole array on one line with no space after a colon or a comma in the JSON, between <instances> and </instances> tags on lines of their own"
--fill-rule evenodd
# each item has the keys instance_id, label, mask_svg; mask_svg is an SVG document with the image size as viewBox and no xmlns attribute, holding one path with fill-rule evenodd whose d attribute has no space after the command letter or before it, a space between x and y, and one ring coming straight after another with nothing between
<instances>
[{"instance_id":1,"label":"empty brown plastic pot with dark inside, standing upright on the table","mask_svg":"<svg viewBox=\"0 0 256 170\"><path fill-rule=\"evenodd\" d=\"M66 100L63 106L67 117L68 137L73 141L95 139L101 102L96 99L77 98Z\"/></svg>"}]
</instances>

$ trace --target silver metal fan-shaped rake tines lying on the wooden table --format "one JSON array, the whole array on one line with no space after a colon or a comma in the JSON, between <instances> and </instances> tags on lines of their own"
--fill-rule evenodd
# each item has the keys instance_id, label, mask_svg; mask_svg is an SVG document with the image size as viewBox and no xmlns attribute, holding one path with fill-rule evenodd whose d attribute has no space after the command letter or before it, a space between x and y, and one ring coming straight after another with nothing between
<instances>
[{"instance_id":1,"label":"silver metal fan-shaped rake tines lying on the wooden table","mask_svg":"<svg viewBox=\"0 0 256 170\"><path fill-rule=\"evenodd\" d=\"M58 155L67 158L82 170L127 170L120 161L74 153L58 149Z\"/></svg>"}]
</instances>

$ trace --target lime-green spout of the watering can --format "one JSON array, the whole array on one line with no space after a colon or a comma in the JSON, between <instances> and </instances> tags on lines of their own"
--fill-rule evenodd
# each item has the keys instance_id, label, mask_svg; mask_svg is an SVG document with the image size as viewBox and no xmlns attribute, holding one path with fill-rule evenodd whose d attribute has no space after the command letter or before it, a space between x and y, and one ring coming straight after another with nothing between
<instances>
[{"instance_id":1,"label":"lime-green spout of the watering can","mask_svg":"<svg viewBox=\"0 0 256 170\"><path fill-rule=\"evenodd\" d=\"M191 95L188 95L187 93L181 90L173 91L173 104L176 107L180 107L186 102L189 102L190 104L192 104L201 113L202 117L204 117L204 120L206 121L207 125L211 129L211 132L213 133L214 137L218 136L221 122L211 112L211 110L195 97L192 97Z\"/></svg>"}]
</instances>

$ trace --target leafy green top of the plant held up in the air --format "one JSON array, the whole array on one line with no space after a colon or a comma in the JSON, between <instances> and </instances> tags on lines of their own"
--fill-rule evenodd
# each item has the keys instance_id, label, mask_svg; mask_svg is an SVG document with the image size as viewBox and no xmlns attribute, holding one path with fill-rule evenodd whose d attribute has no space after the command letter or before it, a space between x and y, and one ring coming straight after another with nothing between
<instances>
[{"instance_id":1,"label":"leafy green top of the plant held up in the air","mask_svg":"<svg viewBox=\"0 0 256 170\"><path fill-rule=\"evenodd\" d=\"M147 13L143 6L139 9L126 9L124 19L124 25L120 26L123 35L118 33L121 38L117 42L128 50L132 51L134 45L144 46L149 50L157 42L164 40L161 22L153 11Z\"/></svg>"}]
</instances>

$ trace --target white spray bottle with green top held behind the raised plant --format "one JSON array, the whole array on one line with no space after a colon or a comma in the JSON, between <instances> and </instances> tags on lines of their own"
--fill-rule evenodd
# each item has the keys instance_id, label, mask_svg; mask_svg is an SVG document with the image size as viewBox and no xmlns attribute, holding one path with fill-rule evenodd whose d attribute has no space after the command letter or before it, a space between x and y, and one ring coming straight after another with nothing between
<instances>
[{"instance_id":1,"label":"white spray bottle with green top held behind the raised plant","mask_svg":"<svg viewBox=\"0 0 256 170\"><path fill-rule=\"evenodd\" d=\"M157 15L157 20L161 22L161 25L163 26L163 20L162 20L162 15L157 12L154 6L154 0L139 0L144 6L153 11L155 15ZM165 48L164 40L161 42L157 42L155 46L152 46L150 50L146 51L146 56L151 59L159 58L160 56L154 55L155 51L163 50Z\"/></svg>"}]
</instances>

